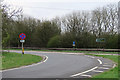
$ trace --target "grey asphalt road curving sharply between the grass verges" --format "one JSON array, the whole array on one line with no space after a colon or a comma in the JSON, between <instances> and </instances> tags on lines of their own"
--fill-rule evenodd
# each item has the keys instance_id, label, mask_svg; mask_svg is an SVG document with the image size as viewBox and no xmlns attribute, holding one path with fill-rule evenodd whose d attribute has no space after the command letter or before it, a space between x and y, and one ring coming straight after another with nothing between
<instances>
[{"instance_id":1,"label":"grey asphalt road curving sharply between the grass verges","mask_svg":"<svg viewBox=\"0 0 120 80\"><path fill-rule=\"evenodd\" d=\"M46 59L37 65L4 70L3 78L87 78L115 67L111 60L83 54L39 51L25 51L25 54L42 55Z\"/></svg>"}]
</instances>

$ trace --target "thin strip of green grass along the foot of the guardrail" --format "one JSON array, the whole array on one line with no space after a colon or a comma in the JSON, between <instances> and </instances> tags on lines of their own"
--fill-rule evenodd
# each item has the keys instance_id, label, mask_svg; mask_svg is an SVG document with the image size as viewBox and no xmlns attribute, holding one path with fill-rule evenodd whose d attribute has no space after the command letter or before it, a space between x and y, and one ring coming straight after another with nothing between
<instances>
[{"instance_id":1,"label":"thin strip of green grass along the foot of the guardrail","mask_svg":"<svg viewBox=\"0 0 120 80\"><path fill-rule=\"evenodd\" d=\"M10 50L21 50L21 49L10 49ZM31 49L25 49L25 51L31 51ZM118 54L118 52L104 52L104 51L70 51L70 50L32 50L32 51Z\"/></svg>"}]
</instances>

